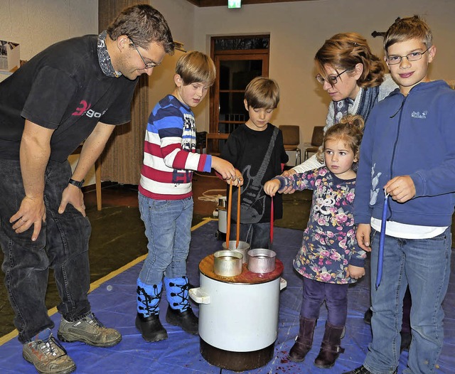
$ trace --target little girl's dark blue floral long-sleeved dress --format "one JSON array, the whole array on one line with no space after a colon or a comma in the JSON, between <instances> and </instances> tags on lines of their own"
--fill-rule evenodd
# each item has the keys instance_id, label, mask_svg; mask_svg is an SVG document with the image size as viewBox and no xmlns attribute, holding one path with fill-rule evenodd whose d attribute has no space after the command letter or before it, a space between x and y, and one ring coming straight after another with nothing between
<instances>
[{"instance_id":1,"label":"little girl's dark blue floral long-sleeved dress","mask_svg":"<svg viewBox=\"0 0 455 374\"><path fill-rule=\"evenodd\" d=\"M353 201L355 179L342 180L326 166L288 177L277 176L280 190L314 190L308 225L294 267L319 282L346 284L348 265L364 267L366 253L355 240Z\"/></svg>"}]
</instances>

